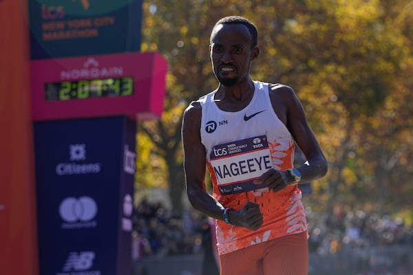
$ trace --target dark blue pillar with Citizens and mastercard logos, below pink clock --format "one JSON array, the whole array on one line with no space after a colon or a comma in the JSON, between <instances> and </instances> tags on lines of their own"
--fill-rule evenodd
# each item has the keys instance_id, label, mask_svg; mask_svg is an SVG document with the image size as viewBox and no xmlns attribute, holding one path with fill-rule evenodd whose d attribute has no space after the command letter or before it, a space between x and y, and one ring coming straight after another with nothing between
<instances>
[{"instance_id":1,"label":"dark blue pillar with Citizens and mastercard logos, below pink clock","mask_svg":"<svg viewBox=\"0 0 413 275\"><path fill-rule=\"evenodd\" d=\"M34 123L39 274L131 274L136 122Z\"/></svg>"}]
</instances>

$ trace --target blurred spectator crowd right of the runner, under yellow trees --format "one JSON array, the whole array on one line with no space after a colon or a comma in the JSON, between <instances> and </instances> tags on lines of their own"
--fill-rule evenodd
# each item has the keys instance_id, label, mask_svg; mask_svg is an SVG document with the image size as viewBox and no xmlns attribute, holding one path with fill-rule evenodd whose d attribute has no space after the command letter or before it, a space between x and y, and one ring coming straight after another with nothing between
<instances>
[{"instance_id":1,"label":"blurred spectator crowd right of the runner, under yellow trees","mask_svg":"<svg viewBox=\"0 0 413 275\"><path fill-rule=\"evenodd\" d=\"M307 208L308 247L317 254L335 254L354 248L412 245L413 226L388 214L367 210L343 210L335 206L330 214Z\"/></svg>"}]
</instances>

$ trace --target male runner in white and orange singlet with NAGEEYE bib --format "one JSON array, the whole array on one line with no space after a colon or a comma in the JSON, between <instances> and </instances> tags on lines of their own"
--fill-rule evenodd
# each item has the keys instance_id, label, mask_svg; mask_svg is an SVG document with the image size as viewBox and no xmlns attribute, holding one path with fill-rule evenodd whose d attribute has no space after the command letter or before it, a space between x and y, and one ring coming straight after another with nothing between
<instances>
[{"instance_id":1,"label":"male runner in white and orange singlet with NAGEEYE bib","mask_svg":"<svg viewBox=\"0 0 413 275\"><path fill-rule=\"evenodd\" d=\"M308 274L308 224L297 184L323 177L326 158L293 89L251 79L260 54L251 21L220 19L209 48L218 88L191 102L182 122L189 201L217 220L221 274ZM295 144L307 159L297 168Z\"/></svg>"}]
</instances>

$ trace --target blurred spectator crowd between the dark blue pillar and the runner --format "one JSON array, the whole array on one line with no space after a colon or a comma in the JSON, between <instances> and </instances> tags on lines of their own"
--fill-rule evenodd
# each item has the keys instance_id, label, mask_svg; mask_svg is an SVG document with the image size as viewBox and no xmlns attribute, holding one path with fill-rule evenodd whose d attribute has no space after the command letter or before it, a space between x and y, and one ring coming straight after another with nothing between
<instances>
[{"instance_id":1,"label":"blurred spectator crowd between the dark blue pillar and the runner","mask_svg":"<svg viewBox=\"0 0 413 275\"><path fill-rule=\"evenodd\" d=\"M161 202L143 199L134 214L133 258L197 254L203 251L202 239L210 232L207 217L200 212L175 213Z\"/></svg>"}]
</instances>

